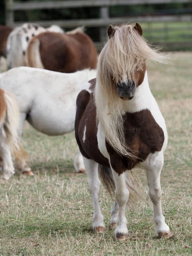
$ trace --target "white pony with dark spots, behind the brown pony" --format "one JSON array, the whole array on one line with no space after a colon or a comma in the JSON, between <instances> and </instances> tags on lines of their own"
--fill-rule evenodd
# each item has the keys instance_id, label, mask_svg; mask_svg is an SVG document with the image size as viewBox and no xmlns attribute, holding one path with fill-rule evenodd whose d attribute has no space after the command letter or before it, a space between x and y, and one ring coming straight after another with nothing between
<instances>
[{"instance_id":1,"label":"white pony with dark spots, behind the brown pony","mask_svg":"<svg viewBox=\"0 0 192 256\"><path fill-rule=\"evenodd\" d=\"M56 25L52 25L45 29L35 23L24 23L13 29L7 40L7 64L9 69L26 66L26 49L29 41L35 35L45 31L64 32L63 29Z\"/></svg>"}]
</instances>

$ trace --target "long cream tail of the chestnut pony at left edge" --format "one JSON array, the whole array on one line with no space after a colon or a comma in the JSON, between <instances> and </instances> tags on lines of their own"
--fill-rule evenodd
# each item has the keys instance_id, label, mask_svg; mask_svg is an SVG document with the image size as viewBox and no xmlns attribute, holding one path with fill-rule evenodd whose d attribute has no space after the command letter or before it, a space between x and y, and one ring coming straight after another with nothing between
<instances>
[{"instance_id":1,"label":"long cream tail of the chestnut pony at left edge","mask_svg":"<svg viewBox=\"0 0 192 256\"><path fill-rule=\"evenodd\" d=\"M4 91L6 100L6 118L4 129L6 133L7 143L12 152L19 151L18 134L19 128L19 108L15 99L6 91Z\"/></svg>"}]
</instances>

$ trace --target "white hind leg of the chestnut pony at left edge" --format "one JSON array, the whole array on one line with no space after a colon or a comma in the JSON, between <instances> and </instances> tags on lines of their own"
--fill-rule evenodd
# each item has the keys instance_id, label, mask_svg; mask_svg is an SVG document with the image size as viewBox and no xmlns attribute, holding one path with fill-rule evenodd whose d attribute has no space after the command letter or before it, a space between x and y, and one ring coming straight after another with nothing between
<instances>
[{"instance_id":1,"label":"white hind leg of the chestnut pony at left edge","mask_svg":"<svg viewBox=\"0 0 192 256\"><path fill-rule=\"evenodd\" d=\"M3 157L3 175L2 178L9 180L12 175L15 174L12 156L9 145L7 144L7 138L3 127L0 128L0 151Z\"/></svg>"}]
</instances>

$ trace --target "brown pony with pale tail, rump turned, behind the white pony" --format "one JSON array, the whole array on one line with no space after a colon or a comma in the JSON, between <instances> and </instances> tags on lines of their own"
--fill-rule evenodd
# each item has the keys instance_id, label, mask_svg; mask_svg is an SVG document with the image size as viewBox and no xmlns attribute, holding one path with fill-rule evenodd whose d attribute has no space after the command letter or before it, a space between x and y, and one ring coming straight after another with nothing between
<instances>
[{"instance_id":1,"label":"brown pony with pale tail, rump turned, behind the white pony","mask_svg":"<svg viewBox=\"0 0 192 256\"><path fill-rule=\"evenodd\" d=\"M93 41L82 28L64 34L41 33L32 38L26 52L28 67L62 73L95 69L97 56Z\"/></svg>"}]
</instances>

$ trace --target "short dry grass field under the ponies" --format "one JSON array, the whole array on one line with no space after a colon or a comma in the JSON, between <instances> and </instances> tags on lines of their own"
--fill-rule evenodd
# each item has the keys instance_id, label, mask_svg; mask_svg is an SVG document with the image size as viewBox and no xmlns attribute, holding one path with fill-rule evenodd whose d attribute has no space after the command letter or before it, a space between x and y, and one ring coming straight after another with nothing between
<instances>
[{"instance_id":1,"label":"short dry grass field under the ponies","mask_svg":"<svg viewBox=\"0 0 192 256\"><path fill-rule=\"evenodd\" d=\"M192 52L172 65L148 63L148 79L166 119L169 143L161 175L163 212L174 237L158 239L145 172L136 170L145 200L126 210L128 240L108 230L112 200L101 191L104 235L91 228L93 204L85 174L76 174L74 133L47 137L26 124L23 145L34 177L0 180L0 255L192 255Z\"/></svg>"}]
</instances>

